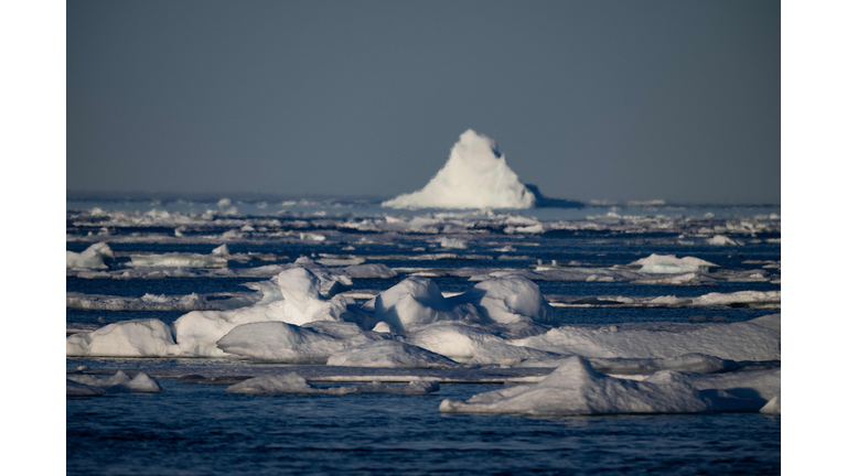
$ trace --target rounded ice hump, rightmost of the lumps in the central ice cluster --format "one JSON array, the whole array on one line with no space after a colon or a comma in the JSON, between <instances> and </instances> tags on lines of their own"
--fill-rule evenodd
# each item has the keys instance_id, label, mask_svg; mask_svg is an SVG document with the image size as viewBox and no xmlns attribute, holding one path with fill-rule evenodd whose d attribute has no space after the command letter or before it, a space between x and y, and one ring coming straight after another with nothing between
<instances>
[{"instance_id":1,"label":"rounded ice hump, rightmost of the lumps in the central ice cluster","mask_svg":"<svg viewBox=\"0 0 847 476\"><path fill-rule=\"evenodd\" d=\"M476 283L471 291L450 302L471 303L480 313L497 323L511 323L522 316L543 324L558 322L538 284L518 275L505 275Z\"/></svg>"}]
</instances>

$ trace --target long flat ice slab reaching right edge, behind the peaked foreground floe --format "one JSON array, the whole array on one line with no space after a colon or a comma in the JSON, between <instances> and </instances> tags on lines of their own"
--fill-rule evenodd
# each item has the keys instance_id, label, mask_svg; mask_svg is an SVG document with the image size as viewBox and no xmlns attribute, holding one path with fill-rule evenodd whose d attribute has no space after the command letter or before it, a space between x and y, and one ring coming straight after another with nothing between
<instances>
[{"instance_id":1,"label":"long flat ice slab reaching right edge, behind the peaked foreground floe","mask_svg":"<svg viewBox=\"0 0 847 476\"><path fill-rule=\"evenodd\" d=\"M780 317L731 324L620 324L617 332L602 326L561 326L510 344L586 357L667 358L698 353L736 361L779 360L780 331L773 328L773 321Z\"/></svg>"}]
</instances>

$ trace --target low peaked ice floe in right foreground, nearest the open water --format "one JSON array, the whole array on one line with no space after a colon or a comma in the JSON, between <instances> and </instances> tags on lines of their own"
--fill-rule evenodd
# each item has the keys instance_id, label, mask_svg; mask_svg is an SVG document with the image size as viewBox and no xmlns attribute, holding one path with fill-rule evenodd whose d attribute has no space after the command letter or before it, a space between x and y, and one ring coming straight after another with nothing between
<instances>
[{"instance_id":1,"label":"low peaked ice floe in right foreground, nearest the open water","mask_svg":"<svg viewBox=\"0 0 847 476\"><path fill-rule=\"evenodd\" d=\"M473 396L467 402L443 400L444 413L570 415L610 413L694 413L752 411L757 401L707 392L685 382L650 382L598 374L581 357L569 357L544 380Z\"/></svg>"}]
</instances>

